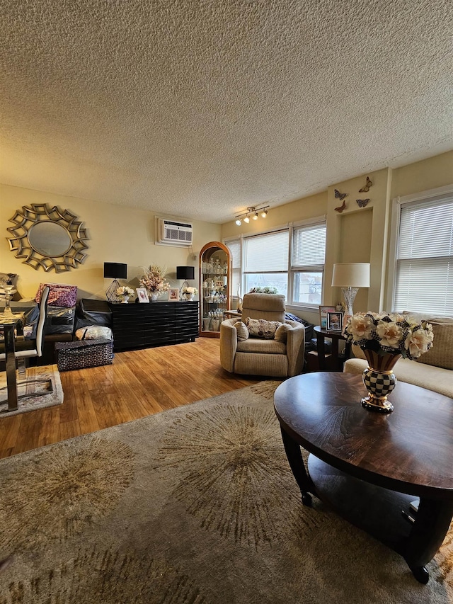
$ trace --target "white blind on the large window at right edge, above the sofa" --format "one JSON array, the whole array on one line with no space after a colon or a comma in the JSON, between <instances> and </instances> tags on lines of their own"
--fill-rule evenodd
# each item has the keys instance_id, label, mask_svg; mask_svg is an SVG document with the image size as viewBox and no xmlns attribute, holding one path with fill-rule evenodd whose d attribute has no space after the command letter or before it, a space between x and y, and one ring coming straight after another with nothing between
<instances>
[{"instance_id":1,"label":"white blind on the large window at right edge, above the sofa","mask_svg":"<svg viewBox=\"0 0 453 604\"><path fill-rule=\"evenodd\" d=\"M453 195L401 206L394 309L453 316Z\"/></svg>"}]
</instances>

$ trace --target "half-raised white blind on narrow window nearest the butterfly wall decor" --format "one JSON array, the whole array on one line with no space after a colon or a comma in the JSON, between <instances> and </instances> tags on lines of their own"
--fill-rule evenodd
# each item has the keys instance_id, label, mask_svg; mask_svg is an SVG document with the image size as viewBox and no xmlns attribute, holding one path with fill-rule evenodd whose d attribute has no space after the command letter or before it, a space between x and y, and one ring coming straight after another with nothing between
<instances>
[{"instance_id":1,"label":"half-raised white blind on narrow window nearest the butterfly wall decor","mask_svg":"<svg viewBox=\"0 0 453 604\"><path fill-rule=\"evenodd\" d=\"M292 270L323 270L326 256L326 223L294 227Z\"/></svg>"}]
</instances>

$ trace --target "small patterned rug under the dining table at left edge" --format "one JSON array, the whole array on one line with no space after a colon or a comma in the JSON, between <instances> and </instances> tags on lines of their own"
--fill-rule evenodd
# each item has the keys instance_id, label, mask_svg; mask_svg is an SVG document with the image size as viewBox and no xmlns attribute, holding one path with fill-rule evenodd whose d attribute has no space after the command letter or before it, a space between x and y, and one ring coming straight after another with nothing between
<instances>
[{"instance_id":1,"label":"small patterned rug under the dining table at left edge","mask_svg":"<svg viewBox=\"0 0 453 604\"><path fill-rule=\"evenodd\" d=\"M33 382L33 380L39 380ZM21 382L25 384L21 385ZM6 391L6 372L0 373L0 411L8 409ZM33 394L36 396L33 396ZM52 405L61 405L63 402L62 382L59 378L57 365L44 365L42 367L28 367L25 377L18 377L18 396L31 394L19 398L17 411L5 411L0 418L10 415L35 411Z\"/></svg>"}]
</instances>

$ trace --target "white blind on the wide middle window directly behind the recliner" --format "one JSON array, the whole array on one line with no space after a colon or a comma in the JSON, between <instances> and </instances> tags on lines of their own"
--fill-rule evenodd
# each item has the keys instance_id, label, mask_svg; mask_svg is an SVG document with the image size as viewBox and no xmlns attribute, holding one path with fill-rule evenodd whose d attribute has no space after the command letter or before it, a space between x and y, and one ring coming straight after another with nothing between
<instances>
[{"instance_id":1,"label":"white blind on the wide middle window directly behind the recliner","mask_svg":"<svg viewBox=\"0 0 453 604\"><path fill-rule=\"evenodd\" d=\"M244 239L245 273L278 273L288 270L288 231Z\"/></svg>"}]
</instances>

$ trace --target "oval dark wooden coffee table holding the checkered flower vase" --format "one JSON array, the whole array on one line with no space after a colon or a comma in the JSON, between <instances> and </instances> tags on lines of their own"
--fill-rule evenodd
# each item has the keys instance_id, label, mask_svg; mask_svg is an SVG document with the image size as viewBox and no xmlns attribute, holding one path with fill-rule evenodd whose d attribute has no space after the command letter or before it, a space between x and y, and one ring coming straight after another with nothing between
<instances>
[{"instance_id":1,"label":"oval dark wooden coffee table holding the checkered flower vase","mask_svg":"<svg viewBox=\"0 0 453 604\"><path fill-rule=\"evenodd\" d=\"M398 382L395 410L384 415L363 409L365 394L362 377L346 373L280 384L275 413L289 465L306 506L311 494L325 501L428 583L425 564L453 516L453 399ZM301 446L311 453L307 468Z\"/></svg>"}]
</instances>

